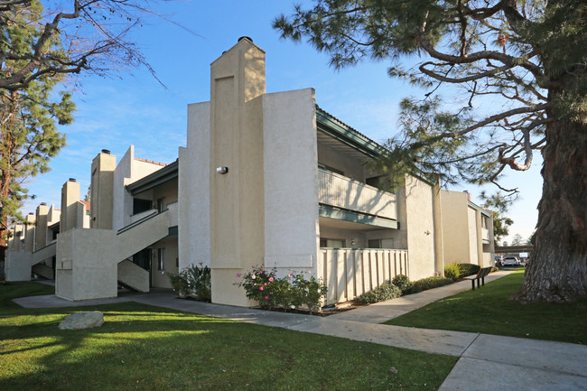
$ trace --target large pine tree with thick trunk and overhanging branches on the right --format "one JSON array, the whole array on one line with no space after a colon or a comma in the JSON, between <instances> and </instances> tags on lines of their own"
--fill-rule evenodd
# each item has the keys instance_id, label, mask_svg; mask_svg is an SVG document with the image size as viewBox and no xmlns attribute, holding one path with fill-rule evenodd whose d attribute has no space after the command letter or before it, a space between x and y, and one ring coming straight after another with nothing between
<instances>
[{"instance_id":1,"label":"large pine tree with thick trunk and overhanging branches on the right","mask_svg":"<svg viewBox=\"0 0 587 391\"><path fill-rule=\"evenodd\" d=\"M381 162L389 172L415 166L499 186L504 169L527 170L539 151L535 248L517 298L566 302L587 294L584 0L317 0L274 26L330 53L334 67L391 61L391 76L428 88L421 100L402 103L403 133Z\"/></svg>"}]
</instances>

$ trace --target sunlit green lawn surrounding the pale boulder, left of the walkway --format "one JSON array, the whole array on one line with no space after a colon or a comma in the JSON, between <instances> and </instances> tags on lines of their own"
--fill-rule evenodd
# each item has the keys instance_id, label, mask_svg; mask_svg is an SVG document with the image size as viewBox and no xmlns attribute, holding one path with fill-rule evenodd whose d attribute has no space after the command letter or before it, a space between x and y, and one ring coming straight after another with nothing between
<instances>
[{"instance_id":1,"label":"sunlit green lawn surrounding the pale boulder, left of the walkway","mask_svg":"<svg viewBox=\"0 0 587 391\"><path fill-rule=\"evenodd\" d=\"M138 303L29 310L10 301L47 288L0 284L2 390L433 390L456 362ZM104 313L102 327L58 329L89 310Z\"/></svg>"}]
</instances>

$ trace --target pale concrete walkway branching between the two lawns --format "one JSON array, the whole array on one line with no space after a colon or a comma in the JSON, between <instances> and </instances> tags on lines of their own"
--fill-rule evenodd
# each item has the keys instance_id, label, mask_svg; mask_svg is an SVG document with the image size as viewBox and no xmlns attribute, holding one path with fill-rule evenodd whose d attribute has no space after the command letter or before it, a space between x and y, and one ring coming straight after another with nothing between
<instances>
[{"instance_id":1,"label":"pale concrete walkway branching between the two lawns","mask_svg":"<svg viewBox=\"0 0 587 391\"><path fill-rule=\"evenodd\" d=\"M486 284L503 275L508 275L508 272L489 275ZM471 289L471 283L464 281L325 318L179 300L172 292L163 290L149 294L127 293L116 299L77 303L55 295L24 297L14 302L27 308L42 308L132 301L231 321L246 321L459 357L440 387L442 391L587 391L587 346L584 345L378 324L468 289Z\"/></svg>"}]
</instances>

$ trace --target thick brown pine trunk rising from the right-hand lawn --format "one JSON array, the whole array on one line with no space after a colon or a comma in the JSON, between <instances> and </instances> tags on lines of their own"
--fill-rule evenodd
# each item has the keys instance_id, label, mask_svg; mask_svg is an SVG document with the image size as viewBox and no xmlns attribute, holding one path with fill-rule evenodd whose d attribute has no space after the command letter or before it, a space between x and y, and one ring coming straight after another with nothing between
<instances>
[{"instance_id":1,"label":"thick brown pine trunk rising from the right-hand lawn","mask_svg":"<svg viewBox=\"0 0 587 391\"><path fill-rule=\"evenodd\" d=\"M542 152L544 185L520 302L587 295L587 125L554 121Z\"/></svg>"}]
</instances>

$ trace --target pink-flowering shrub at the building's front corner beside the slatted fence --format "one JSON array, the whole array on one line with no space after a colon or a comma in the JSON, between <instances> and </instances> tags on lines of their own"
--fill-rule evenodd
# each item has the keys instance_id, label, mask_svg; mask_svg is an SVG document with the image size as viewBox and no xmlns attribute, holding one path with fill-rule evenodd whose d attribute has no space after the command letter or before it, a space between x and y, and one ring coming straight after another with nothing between
<instances>
[{"instance_id":1,"label":"pink-flowering shrub at the building's front corner beside the slatted fence","mask_svg":"<svg viewBox=\"0 0 587 391\"><path fill-rule=\"evenodd\" d=\"M262 266L253 265L251 272L237 276L241 278L237 285L245 289L247 297L265 309L293 309L306 305L310 312L316 311L327 292L326 285L313 276L310 280L306 280L303 274L278 278L275 269L267 271Z\"/></svg>"}]
</instances>

